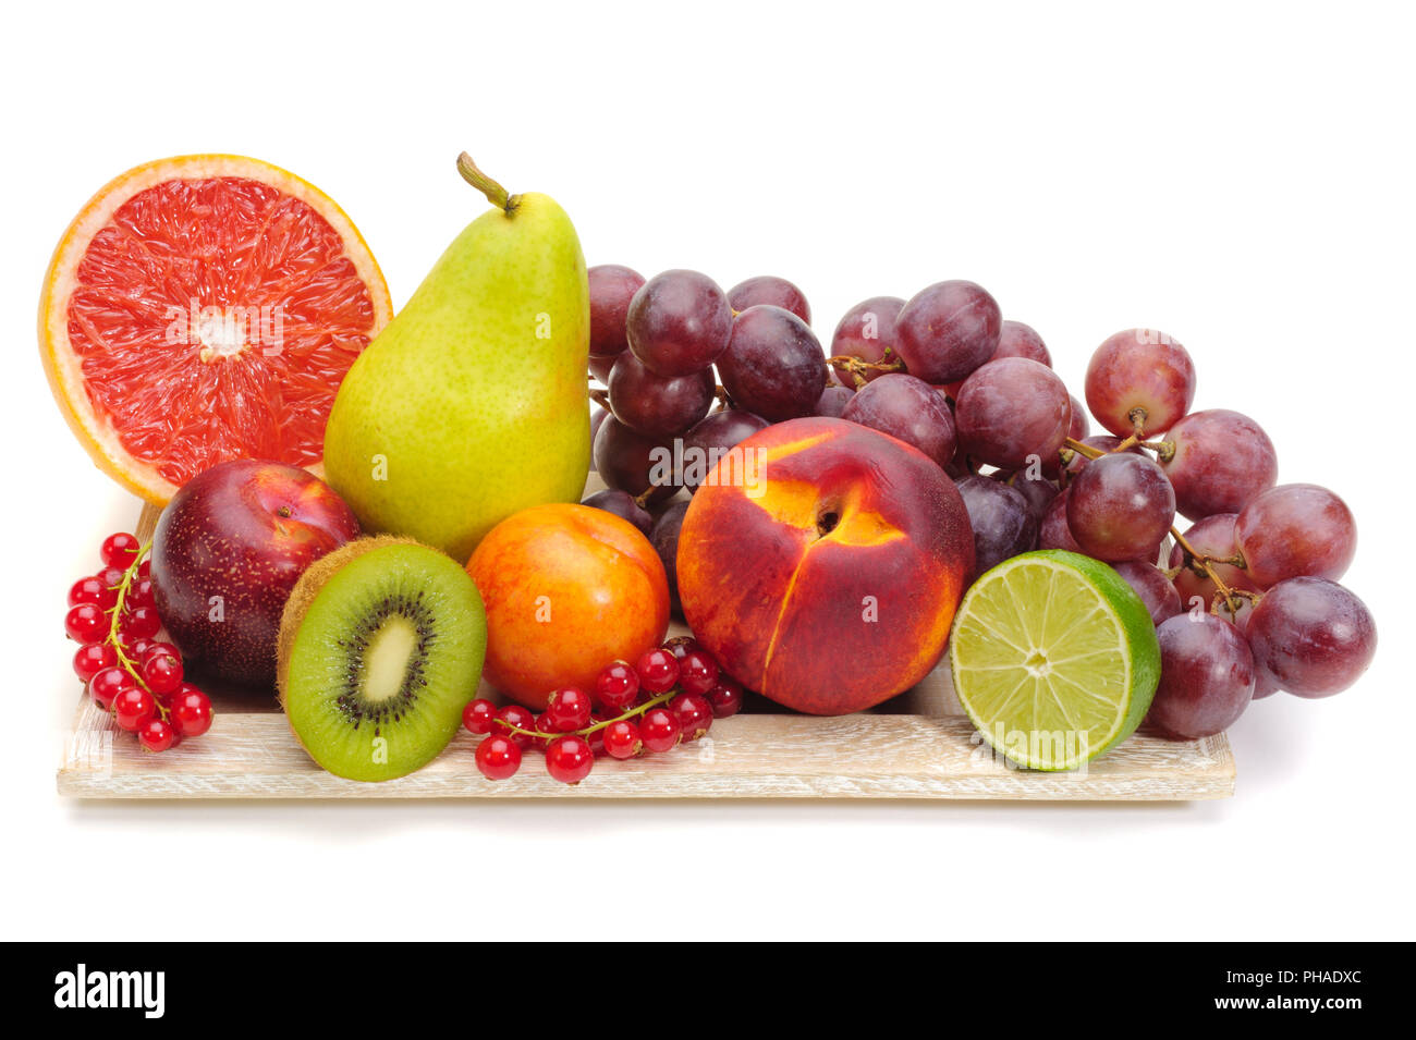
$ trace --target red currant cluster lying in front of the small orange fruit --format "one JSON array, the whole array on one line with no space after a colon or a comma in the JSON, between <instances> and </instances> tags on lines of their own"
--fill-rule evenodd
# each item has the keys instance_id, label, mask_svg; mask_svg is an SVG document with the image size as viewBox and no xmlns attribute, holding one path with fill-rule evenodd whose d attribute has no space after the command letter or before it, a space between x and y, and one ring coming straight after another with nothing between
<instances>
[{"instance_id":1,"label":"red currant cluster lying in front of the small orange fruit","mask_svg":"<svg viewBox=\"0 0 1416 1040\"><path fill-rule=\"evenodd\" d=\"M477 698L463 709L462 722L486 737L477 744L477 768L487 780L515 775L521 753L534 747L545 754L552 778L579 784L598 757L668 751L739 710L742 686L697 641L681 635L634 665L607 665L593 693L578 686L552 691L541 715Z\"/></svg>"}]
</instances>

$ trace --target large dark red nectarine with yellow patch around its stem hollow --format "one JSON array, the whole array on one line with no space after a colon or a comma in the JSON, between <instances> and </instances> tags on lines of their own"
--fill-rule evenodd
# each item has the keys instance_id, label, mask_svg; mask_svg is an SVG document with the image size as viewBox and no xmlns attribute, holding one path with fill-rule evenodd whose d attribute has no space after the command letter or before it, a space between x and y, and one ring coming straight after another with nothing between
<instances>
[{"instance_id":1,"label":"large dark red nectarine with yellow patch around its stem hollow","mask_svg":"<svg viewBox=\"0 0 1416 1040\"><path fill-rule=\"evenodd\" d=\"M963 499L903 441L841 419L743 440L752 484L724 466L678 539L694 635L739 682L787 707L843 715L937 664L974 565Z\"/></svg>"}]
</instances>

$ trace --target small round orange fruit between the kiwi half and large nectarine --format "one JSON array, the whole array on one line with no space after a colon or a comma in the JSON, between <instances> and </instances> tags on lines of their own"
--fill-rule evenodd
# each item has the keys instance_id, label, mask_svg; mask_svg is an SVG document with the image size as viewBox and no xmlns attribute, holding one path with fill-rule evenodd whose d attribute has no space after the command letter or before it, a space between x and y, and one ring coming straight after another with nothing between
<instances>
[{"instance_id":1,"label":"small round orange fruit between the kiwi half and large nectarine","mask_svg":"<svg viewBox=\"0 0 1416 1040\"><path fill-rule=\"evenodd\" d=\"M639 529L588 505L537 505L494 526L467 562L487 608L483 676L541 710L558 686L593 689L668 630L668 579Z\"/></svg>"}]
</instances>

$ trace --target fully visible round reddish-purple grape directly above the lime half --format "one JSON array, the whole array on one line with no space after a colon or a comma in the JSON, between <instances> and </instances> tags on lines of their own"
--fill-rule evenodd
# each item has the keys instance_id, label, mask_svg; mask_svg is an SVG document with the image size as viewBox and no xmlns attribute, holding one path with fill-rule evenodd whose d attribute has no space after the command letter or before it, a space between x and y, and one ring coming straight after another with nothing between
<instances>
[{"instance_id":1,"label":"fully visible round reddish-purple grape directly above the lime half","mask_svg":"<svg viewBox=\"0 0 1416 1040\"><path fill-rule=\"evenodd\" d=\"M1175 492L1144 456L1093 458L1068 488L1068 528L1099 560L1155 559L1174 521Z\"/></svg>"}]
</instances>

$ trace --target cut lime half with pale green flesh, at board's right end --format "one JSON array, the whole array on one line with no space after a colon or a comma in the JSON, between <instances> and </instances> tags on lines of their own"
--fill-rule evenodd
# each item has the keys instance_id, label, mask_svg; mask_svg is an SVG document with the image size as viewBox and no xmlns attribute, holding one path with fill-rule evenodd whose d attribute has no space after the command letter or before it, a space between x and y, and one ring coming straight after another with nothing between
<instances>
[{"instance_id":1,"label":"cut lime half with pale green flesh, at board's right end","mask_svg":"<svg viewBox=\"0 0 1416 1040\"><path fill-rule=\"evenodd\" d=\"M1146 604L1107 565L1056 549L974 582L952 648L969 719L1031 770L1072 770L1126 740L1160 682Z\"/></svg>"}]
</instances>

